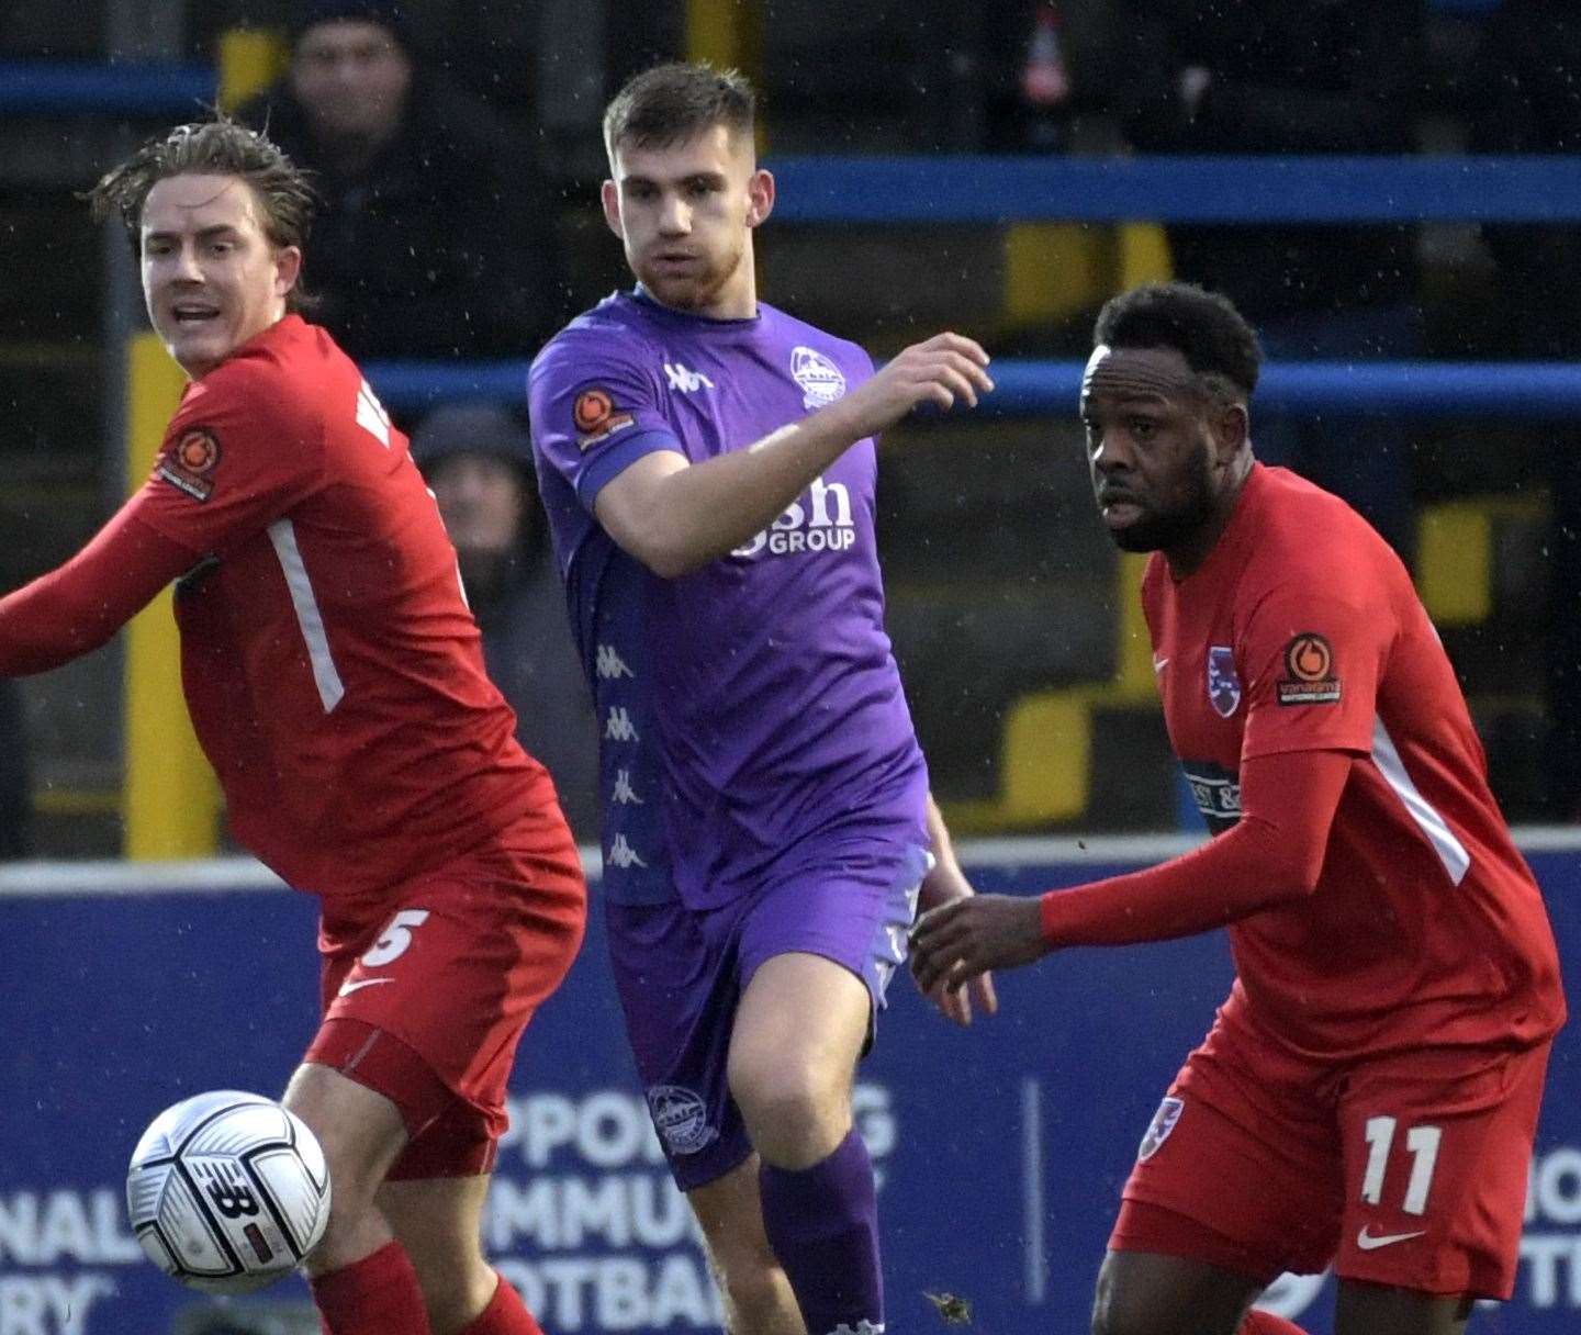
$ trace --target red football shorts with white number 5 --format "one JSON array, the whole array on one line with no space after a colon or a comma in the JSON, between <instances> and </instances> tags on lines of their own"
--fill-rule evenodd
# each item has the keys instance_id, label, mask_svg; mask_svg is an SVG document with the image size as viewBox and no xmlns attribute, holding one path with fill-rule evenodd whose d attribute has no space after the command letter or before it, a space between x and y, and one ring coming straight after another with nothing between
<instances>
[{"instance_id":1,"label":"red football shorts with white number 5","mask_svg":"<svg viewBox=\"0 0 1581 1335\"><path fill-rule=\"evenodd\" d=\"M479 849L376 908L324 903L323 1022L304 1060L400 1109L411 1139L391 1178L493 1166L515 1046L571 968L587 922L569 834L547 854L542 845Z\"/></svg>"}]
</instances>

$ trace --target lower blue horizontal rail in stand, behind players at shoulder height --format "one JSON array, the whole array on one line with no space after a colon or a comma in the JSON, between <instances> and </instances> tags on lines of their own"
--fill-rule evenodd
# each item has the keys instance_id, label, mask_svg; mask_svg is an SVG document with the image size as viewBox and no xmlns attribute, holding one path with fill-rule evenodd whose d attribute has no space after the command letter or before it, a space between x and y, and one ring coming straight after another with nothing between
<instances>
[{"instance_id":1,"label":"lower blue horizontal rail in stand, behind players at shoulder height","mask_svg":"<svg viewBox=\"0 0 1581 1335\"><path fill-rule=\"evenodd\" d=\"M368 362L368 383L398 413L446 399L520 400L526 361ZM1081 362L998 359L998 386L979 411L1006 416L1075 413ZM1581 367L1567 362L1274 362L1263 372L1257 407L1301 413L1415 416L1488 414L1557 419L1581 416Z\"/></svg>"}]
</instances>

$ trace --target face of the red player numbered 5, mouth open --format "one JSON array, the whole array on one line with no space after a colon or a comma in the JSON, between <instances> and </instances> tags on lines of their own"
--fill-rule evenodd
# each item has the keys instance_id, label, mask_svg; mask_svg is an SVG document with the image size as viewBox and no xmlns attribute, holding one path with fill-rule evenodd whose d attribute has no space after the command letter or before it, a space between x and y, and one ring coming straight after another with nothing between
<instances>
[{"instance_id":1,"label":"face of the red player numbered 5, mouth open","mask_svg":"<svg viewBox=\"0 0 1581 1335\"><path fill-rule=\"evenodd\" d=\"M142 296L171 356L194 380L286 310L302 251L275 247L262 206L234 176L172 176L142 206Z\"/></svg>"}]
</instances>

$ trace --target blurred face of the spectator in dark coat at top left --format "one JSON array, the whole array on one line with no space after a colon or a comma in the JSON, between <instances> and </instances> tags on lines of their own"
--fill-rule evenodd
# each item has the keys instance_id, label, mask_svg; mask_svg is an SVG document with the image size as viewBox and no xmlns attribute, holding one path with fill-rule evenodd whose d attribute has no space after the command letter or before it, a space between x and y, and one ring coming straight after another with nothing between
<instances>
[{"instance_id":1,"label":"blurred face of the spectator in dark coat at top left","mask_svg":"<svg viewBox=\"0 0 1581 1335\"><path fill-rule=\"evenodd\" d=\"M321 139L386 139L411 89L411 60L383 24L315 24L291 59L291 90Z\"/></svg>"}]
</instances>

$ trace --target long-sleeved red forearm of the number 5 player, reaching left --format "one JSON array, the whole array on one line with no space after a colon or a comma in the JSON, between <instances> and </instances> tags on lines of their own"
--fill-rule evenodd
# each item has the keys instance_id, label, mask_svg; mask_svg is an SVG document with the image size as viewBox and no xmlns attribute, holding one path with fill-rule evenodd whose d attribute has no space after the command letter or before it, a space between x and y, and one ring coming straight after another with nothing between
<instances>
[{"instance_id":1,"label":"long-sleeved red forearm of the number 5 player, reaching left","mask_svg":"<svg viewBox=\"0 0 1581 1335\"><path fill-rule=\"evenodd\" d=\"M128 503L63 566L0 598L0 675L47 672L98 649L196 560Z\"/></svg>"}]
</instances>

